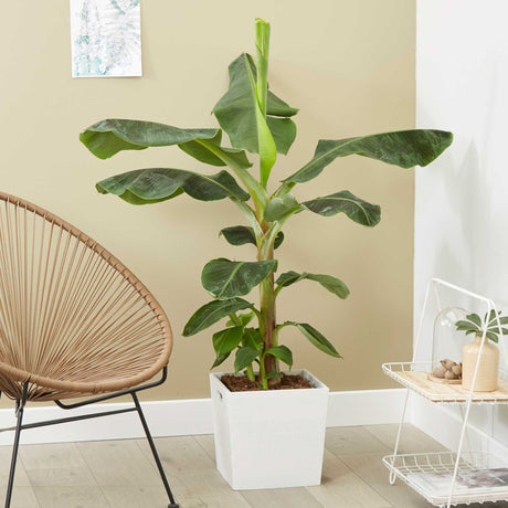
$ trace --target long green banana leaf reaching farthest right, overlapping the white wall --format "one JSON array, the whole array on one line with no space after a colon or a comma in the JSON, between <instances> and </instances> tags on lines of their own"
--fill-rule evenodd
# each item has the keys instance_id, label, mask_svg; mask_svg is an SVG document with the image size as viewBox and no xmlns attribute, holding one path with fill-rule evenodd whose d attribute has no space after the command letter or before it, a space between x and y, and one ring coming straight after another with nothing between
<instances>
[{"instance_id":1,"label":"long green banana leaf reaching farthest right, overlapping the white wall","mask_svg":"<svg viewBox=\"0 0 508 508\"><path fill-rule=\"evenodd\" d=\"M359 155L401 168L426 166L438 157L453 140L444 130L400 130L357 138L320 139L313 160L286 178L285 182L303 183L316 178L337 157Z\"/></svg>"}]
</instances>

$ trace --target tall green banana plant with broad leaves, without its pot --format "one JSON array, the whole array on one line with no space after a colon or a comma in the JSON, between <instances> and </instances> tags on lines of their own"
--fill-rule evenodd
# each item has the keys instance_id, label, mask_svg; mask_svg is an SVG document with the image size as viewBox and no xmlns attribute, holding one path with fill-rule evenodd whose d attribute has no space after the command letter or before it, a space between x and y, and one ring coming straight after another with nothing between
<instances>
[{"instance_id":1,"label":"tall green banana plant with broad leaves, without its pot","mask_svg":"<svg viewBox=\"0 0 508 508\"><path fill-rule=\"evenodd\" d=\"M271 188L277 156L286 155L295 140L293 117L298 109L268 87L269 24L261 19L255 20L255 59L244 53L229 66L229 89L213 108L218 128L188 129L151 121L105 119L84 130L80 139L100 159L123 150L178 146L193 159L220 168L214 174L174 168L137 169L99 181L96 188L130 204L159 203L187 193L201 201L227 199L240 210L245 222L225 227L220 234L231 245L254 245L256 258L221 257L205 264L201 282L213 299L190 317L183 336L193 336L227 319L225 328L213 335L216 359L212 367L234 353L235 372L245 372L261 388L268 389L279 382L279 362L289 369L293 364L292 351L279 343L279 334L288 326L296 327L319 350L341 358L314 326L277 322L281 292L311 281L339 298L349 295L347 285L331 275L295 271L275 275L278 263L274 251L284 241L283 226L300 212L326 218L343 213L368 227L381 219L378 204L348 190L301 202L294 189L317 178L337 158L351 155L406 169L423 167L452 144L453 136L443 130L414 129L320 139L307 163ZM224 142L224 135L230 142ZM252 160L256 162L257 173ZM257 304L243 298L256 287Z\"/></svg>"}]
</instances>

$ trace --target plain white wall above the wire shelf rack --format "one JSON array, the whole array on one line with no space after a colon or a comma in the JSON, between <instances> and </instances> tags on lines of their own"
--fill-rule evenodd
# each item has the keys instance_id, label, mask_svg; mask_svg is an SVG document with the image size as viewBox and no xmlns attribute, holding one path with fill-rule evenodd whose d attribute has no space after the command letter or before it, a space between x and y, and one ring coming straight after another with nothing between
<instances>
[{"instance_id":1,"label":"plain white wall above the wire shelf rack","mask_svg":"<svg viewBox=\"0 0 508 508\"><path fill-rule=\"evenodd\" d=\"M508 2L419 0L416 15L416 125L455 140L416 170L415 326L432 276L508 311ZM508 411L496 411L508 443ZM478 425L489 417L475 411Z\"/></svg>"}]
</instances>

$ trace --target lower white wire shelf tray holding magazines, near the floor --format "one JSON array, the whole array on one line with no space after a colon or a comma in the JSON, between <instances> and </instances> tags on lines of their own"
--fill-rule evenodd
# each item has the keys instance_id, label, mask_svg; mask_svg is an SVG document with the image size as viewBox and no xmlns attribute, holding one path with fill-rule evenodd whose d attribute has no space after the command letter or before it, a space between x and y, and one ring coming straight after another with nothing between
<instances>
[{"instance_id":1,"label":"lower white wire shelf tray holding magazines, near the floor","mask_svg":"<svg viewBox=\"0 0 508 508\"><path fill-rule=\"evenodd\" d=\"M387 455L383 464L398 478L438 507L448 506L457 455L451 452ZM451 505L508 500L508 464L493 455L464 453Z\"/></svg>"}]
</instances>

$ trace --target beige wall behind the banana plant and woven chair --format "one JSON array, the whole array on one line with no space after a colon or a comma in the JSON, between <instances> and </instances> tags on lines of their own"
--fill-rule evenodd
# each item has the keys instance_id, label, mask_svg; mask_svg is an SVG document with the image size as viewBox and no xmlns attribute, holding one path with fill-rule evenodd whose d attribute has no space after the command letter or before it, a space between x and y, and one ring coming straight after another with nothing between
<instances>
[{"instance_id":1,"label":"beige wall behind the banana plant and woven chair","mask_svg":"<svg viewBox=\"0 0 508 508\"><path fill-rule=\"evenodd\" d=\"M208 395L211 331L186 339L180 331L208 301L200 287L204 263L248 260L254 252L218 239L221 227L242 221L229 202L180 197L135 208L94 190L96 181L128 169L203 169L178 148L99 161L78 142L78 133L107 117L214 126L209 112L226 88L227 64L253 51L253 20L262 17L272 23L272 87L300 108L297 142L274 171L281 179L311 158L318 138L414 126L414 3L144 0L144 77L103 80L71 78L68 1L2 6L0 188L83 229L160 300L174 350L169 382L152 398ZM379 226L301 213L278 251L283 271L329 273L349 285L351 296L342 301L301 283L282 294L279 308L281 319L314 324L345 359L320 353L293 330L283 340L294 349L295 367L305 366L331 390L389 387L380 363L408 359L411 350L413 173L352 157L296 194L310 199L345 189L382 205Z\"/></svg>"}]
</instances>

